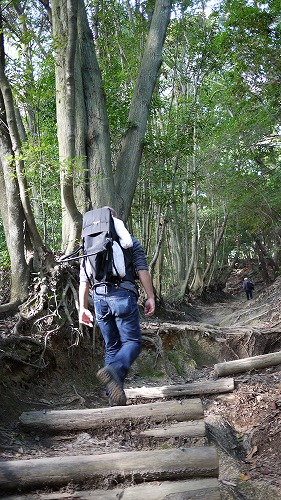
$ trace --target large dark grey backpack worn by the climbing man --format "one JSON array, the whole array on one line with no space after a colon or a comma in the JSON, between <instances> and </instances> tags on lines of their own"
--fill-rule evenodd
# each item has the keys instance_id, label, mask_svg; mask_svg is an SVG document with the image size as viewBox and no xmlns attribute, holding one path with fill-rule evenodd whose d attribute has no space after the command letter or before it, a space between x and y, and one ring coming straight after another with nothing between
<instances>
[{"instance_id":1,"label":"large dark grey backpack worn by the climbing man","mask_svg":"<svg viewBox=\"0 0 281 500\"><path fill-rule=\"evenodd\" d=\"M81 249L83 254L73 257ZM118 283L122 280L132 282L135 280L132 249L123 249L120 246L109 208L97 208L83 215L82 244L73 254L61 260L70 261L81 258L89 281L91 280L87 261L90 264L94 282Z\"/></svg>"}]
</instances>

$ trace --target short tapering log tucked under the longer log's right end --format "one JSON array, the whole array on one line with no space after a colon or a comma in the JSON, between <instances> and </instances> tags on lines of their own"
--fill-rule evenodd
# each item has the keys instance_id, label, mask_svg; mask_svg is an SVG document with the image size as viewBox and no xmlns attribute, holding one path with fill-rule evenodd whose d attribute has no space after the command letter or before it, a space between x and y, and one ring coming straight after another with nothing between
<instances>
[{"instance_id":1,"label":"short tapering log tucked under the longer log's right end","mask_svg":"<svg viewBox=\"0 0 281 500\"><path fill-rule=\"evenodd\" d=\"M132 435L139 437L202 437L206 435L204 420L193 420L190 422L178 422L176 424L165 425L165 427L153 427L142 432L132 432Z\"/></svg>"}]
</instances>

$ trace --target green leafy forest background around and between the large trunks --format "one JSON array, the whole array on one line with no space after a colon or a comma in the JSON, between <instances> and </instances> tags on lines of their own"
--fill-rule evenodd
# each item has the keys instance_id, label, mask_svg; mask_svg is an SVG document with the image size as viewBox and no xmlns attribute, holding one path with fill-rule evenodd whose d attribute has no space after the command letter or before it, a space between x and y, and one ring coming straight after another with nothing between
<instances>
[{"instance_id":1,"label":"green leafy forest background around and between the large trunks","mask_svg":"<svg viewBox=\"0 0 281 500\"><path fill-rule=\"evenodd\" d=\"M113 164L128 127L151 7L150 1L87 2L107 98ZM50 30L42 6L35 8L33 2L26 3L21 22L12 5L9 15L5 36L15 52L7 73L26 130L25 175L40 231L58 249L62 166ZM179 289L192 258L190 286L198 278L197 268L204 273L226 214L214 260L216 276L233 255L254 252L257 236L273 254L281 213L280 35L278 0L220 1L209 15L198 2L174 4L131 221L149 259L167 221L158 259L165 293ZM66 167L79 173L79 160ZM1 246L3 266L5 251Z\"/></svg>"}]
</instances>

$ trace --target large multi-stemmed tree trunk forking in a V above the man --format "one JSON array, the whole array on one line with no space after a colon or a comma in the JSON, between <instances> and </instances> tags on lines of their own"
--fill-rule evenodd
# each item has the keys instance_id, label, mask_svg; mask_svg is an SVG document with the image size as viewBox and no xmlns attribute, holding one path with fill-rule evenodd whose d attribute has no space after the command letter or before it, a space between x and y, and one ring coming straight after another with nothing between
<instances>
[{"instance_id":1,"label":"large multi-stemmed tree trunk forking in a V above the man","mask_svg":"<svg viewBox=\"0 0 281 500\"><path fill-rule=\"evenodd\" d=\"M83 154L83 135L87 166L81 156L78 161L85 168L84 178L89 185L91 205L114 206L125 220L128 218L139 173L149 105L162 61L170 10L170 0L156 0L130 106L129 126L113 178L106 98L84 2L52 2L61 162L62 248L66 252L72 251L80 238L81 214L74 196L73 172L75 161ZM81 119L83 113L85 130ZM79 143L75 142L77 132Z\"/></svg>"}]
</instances>

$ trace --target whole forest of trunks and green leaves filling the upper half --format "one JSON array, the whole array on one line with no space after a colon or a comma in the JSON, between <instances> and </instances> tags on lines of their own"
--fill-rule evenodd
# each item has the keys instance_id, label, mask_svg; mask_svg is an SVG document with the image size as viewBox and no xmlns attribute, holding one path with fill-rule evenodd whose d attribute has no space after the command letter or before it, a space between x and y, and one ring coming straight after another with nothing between
<instances>
[{"instance_id":1,"label":"whole forest of trunks and green leaves filling the upper half","mask_svg":"<svg viewBox=\"0 0 281 500\"><path fill-rule=\"evenodd\" d=\"M7 1L0 267L11 302L111 205L158 296L279 273L278 0Z\"/></svg>"}]
</instances>

